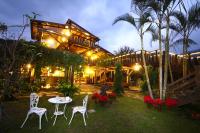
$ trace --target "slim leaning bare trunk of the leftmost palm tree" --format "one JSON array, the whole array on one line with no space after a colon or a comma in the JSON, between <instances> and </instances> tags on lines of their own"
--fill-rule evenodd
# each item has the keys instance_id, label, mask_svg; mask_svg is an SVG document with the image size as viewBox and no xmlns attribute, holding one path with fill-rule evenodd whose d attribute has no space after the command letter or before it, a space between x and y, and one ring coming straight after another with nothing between
<instances>
[{"instance_id":1,"label":"slim leaning bare trunk of the leftmost palm tree","mask_svg":"<svg viewBox=\"0 0 200 133\"><path fill-rule=\"evenodd\" d=\"M145 72L145 76L146 76L146 80L147 80L148 91L149 91L149 95L153 98L153 93L152 93L151 85L150 85L150 81L149 81L149 75L148 75L146 60L145 60L145 57L144 57L144 43L143 43L142 29L141 29L140 39L141 39L141 49L142 49L142 51L141 51L142 52L142 60L143 60L143 64L144 64L144 72Z\"/></svg>"}]
</instances>

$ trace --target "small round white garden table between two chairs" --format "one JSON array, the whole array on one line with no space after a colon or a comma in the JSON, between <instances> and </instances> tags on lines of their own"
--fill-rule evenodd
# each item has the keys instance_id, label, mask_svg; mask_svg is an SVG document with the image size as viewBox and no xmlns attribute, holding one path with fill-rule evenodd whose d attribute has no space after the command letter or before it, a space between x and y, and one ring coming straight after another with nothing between
<instances>
[{"instance_id":1,"label":"small round white garden table between two chairs","mask_svg":"<svg viewBox=\"0 0 200 133\"><path fill-rule=\"evenodd\" d=\"M70 97L53 97L53 98L49 98L48 101L50 103L55 104L55 111L53 113L53 116L55 116L55 119L54 119L54 122L53 122L53 126L56 123L56 119L57 119L58 115L63 115L65 117L65 119L67 120L67 117L65 116L65 109L66 109L67 103L72 102L72 99ZM60 104L64 104L63 111L59 111L59 105Z\"/></svg>"}]
</instances>

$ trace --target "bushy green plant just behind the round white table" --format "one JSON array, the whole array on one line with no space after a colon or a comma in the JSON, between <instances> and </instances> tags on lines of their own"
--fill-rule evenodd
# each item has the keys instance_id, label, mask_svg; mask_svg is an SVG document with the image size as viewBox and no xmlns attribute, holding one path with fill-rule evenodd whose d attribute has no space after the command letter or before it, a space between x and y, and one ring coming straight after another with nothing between
<instances>
[{"instance_id":1,"label":"bushy green plant just behind the round white table","mask_svg":"<svg viewBox=\"0 0 200 133\"><path fill-rule=\"evenodd\" d=\"M64 96L70 97L73 97L75 93L79 92L79 87L75 85L71 86L71 84L66 81L61 81L58 85L58 89Z\"/></svg>"}]
</instances>

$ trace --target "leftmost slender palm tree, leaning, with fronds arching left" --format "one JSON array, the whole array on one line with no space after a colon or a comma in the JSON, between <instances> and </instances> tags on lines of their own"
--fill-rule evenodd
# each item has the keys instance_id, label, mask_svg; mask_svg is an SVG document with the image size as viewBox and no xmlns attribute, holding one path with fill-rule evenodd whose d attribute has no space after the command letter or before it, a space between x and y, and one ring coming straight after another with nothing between
<instances>
[{"instance_id":1,"label":"leftmost slender palm tree, leaning, with fronds arching left","mask_svg":"<svg viewBox=\"0 0 200 133\"><path fill-rule=\"evenodd\" d=\"M145 76L146 76L147 85L148 85L148 91L149 91L150 96L153 98L153 93L152 93L150 80L149 80L149 76L148 76L146 61L145 61L145 57L144 57L144 42L143 42L144 33L148 31L148 28L145 30L144 26L145 26L145 24L151 22L150 10L146 9L142 5L136 5L135 13L139 16L139 18L134 18L131 14L126 13L122 16L117 17L114 20L113 24L116 24L119 21L125 21L125 22L128 22L131 25L133 25L136 28L136 30L138 31L138 34L139 34L140 40L141 40L142 59L143 59Z\"/></svg>"}]
</instances>

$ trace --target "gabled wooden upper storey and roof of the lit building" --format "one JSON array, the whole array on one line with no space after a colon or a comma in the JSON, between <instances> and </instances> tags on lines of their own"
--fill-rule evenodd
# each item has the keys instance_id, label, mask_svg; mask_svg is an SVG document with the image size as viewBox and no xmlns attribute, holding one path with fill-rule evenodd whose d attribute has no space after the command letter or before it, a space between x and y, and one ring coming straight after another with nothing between
<instances>
[{"instance_id":1,"label":"gabled wooden upper storey and roof of the lit building","mask_svg":"<svg viewBox=\"0 0 200 133\"><path fill-rule=\"evenodd\" d=\"M68 30L71 33L71 36L68 36L65 42L62 41L62 38L65 37L62 33L63 30ZM96 44L96 42L100 40L97 36L71 19L68 19L65 24L31 20L31 38L38 41L45 41L48 38L53 38L56 41L56 44L53 46L54 48L69 50L78 54L98 49L99 54L113 55Z\"/></svg>"}]
</instances>

